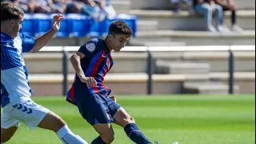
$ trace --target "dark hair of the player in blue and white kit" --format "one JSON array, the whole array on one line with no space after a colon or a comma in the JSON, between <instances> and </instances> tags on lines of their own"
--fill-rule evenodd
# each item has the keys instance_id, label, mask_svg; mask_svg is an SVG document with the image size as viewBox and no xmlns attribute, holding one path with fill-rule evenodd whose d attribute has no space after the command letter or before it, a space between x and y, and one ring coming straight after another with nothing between
<instances>
[{"instance_id":1,"label":"dark hair of the player in blue and white kit","mask_svg":"<svg viewBox=\"0 0 256 144\"><path fill-rule=\"evenodd\" d=\"M11 2L1 2L1 22L8 19L22 18L24 11Z\"/></svg>"}]
</instances>

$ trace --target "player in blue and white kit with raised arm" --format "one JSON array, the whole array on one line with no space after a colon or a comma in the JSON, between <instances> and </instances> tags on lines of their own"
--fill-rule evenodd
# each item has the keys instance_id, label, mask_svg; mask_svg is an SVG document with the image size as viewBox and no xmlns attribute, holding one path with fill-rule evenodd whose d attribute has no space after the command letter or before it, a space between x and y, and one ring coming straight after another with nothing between
<instances>
[{"instance_id":1,"label":"player in blue and white kit with raised arm","mask_svg":"<svg viewBox=\"0 0 256 144\"><path fill-rule=\"evenodd\" d=\"M62 15L55 15L52 29L40 38L19 34L24 12L10 2L1 2L1 143L7 142L24 122L53 130L65 144L87 144L73 134L57 114L30 99L32 91L22 52L37 52L59 30Z\"/></svg>"}]
</instances>

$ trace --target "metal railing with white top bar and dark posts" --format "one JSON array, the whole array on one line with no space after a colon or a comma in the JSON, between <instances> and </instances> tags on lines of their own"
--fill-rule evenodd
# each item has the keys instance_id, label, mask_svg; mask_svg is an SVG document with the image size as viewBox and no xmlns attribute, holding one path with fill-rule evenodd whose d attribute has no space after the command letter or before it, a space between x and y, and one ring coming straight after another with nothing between
<instances>
[{"instance_id":1,"label":"metal railing with white top bar and dark posts","mask_svg":"<svg viewBox=\"0 0 256 144\"><path fill-rule=\"evenodd\" d=\"M62 52L62 71L63 71L63 85L62 93L66 95L68 90L68 64L69 64L69 55L70 51L77 51L79 46L46 46L42 48L42 52ZM228 51L228 72L229 72L229 94L234 94L234 51L255 51L255 46L126 46L121 51L130 51L130 52L146 52L146 73L148 75L147 80L147 94L152 94L153 90L153 55L152 52L172 52L172 51Z\"/></svg>"}]
</instances>

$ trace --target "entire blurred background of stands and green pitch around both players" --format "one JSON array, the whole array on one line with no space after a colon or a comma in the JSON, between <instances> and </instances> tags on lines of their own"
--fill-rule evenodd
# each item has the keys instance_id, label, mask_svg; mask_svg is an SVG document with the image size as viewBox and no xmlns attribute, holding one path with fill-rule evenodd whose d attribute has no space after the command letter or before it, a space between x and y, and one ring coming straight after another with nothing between
<instances>
[{"instance_id":1,"label":"entire blurred background of stands and green pitch around both players","mask_svg":"<svg viewBox=\"0 0 256 144\"><path fill-rule=\"evenodd\" d=\"M98 134L63 97L74 81L69 58L90 38L106 38L118 19L134 38L112 53L104 83L151 141L255 143L255 0L13 2L26 12L21 32L36 38L50 30L54 14L65 16L42 50L23 56L34 102L87 142ZM133 143L121 127L114 130L113 143ZM21 126L17 133L11 144L60 143L48 130Z\"/></svg>"}]
</instances>

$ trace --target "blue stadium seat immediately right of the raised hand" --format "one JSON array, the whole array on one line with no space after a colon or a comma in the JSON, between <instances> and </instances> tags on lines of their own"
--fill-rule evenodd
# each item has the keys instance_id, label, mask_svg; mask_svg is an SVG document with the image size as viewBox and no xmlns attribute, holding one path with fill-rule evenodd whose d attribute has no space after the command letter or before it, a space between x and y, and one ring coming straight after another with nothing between
<instances>
[{"instance_id":1,"label":"blue stadium seat immediately right of the raised hand","mask_svg":"<svg viewBox=\"0 0 256 144\"><path fill-rule=\"evenodd\" d=\"M70 37L86 37L90 30L90 18L83 14L67 14L66 19L68 19Z\"/></svg>"}]
</instances>

